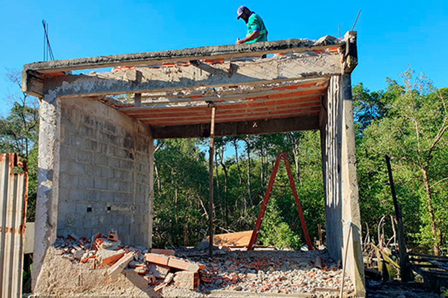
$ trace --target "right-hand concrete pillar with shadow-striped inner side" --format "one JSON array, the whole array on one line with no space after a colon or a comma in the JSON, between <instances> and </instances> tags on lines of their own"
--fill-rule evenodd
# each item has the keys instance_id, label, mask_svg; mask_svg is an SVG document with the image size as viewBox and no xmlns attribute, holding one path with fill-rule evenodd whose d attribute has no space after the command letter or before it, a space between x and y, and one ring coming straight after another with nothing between
<instances>
[{"instance_id":1,"label":"right-hand concrete pillar with shadow-striped inner side","mask_svg":"<svg viewBox=\"0 0 448 298\"><path fill-rule=\"evenodd\" d=\"M325 188L327 248L333 259L343 258L348 222L353 224L346 272L356 294L365 295L361 223L356 178L356 150L350 74L330 79L320 115L322 171Z\"/></svg>"}]
</instances>

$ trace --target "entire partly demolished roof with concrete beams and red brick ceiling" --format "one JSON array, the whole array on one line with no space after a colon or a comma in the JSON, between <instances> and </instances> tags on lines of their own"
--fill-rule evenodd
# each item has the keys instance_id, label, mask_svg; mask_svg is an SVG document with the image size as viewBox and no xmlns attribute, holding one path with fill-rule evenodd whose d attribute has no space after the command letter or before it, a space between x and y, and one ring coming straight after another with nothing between
<instances>
[{"instance_id":1,"label":"entire partly demolished roof with concrete beams and red brick ceiling","mask_svg":"<svg viewBox=\"0 0 448 298\"><path fill-rule=\"evenodd\" d=\"M318 129L329 78L356 63L356 32L349 31L343 40L36 62L24 66L22 89L38 97L91 97L151 125L155 138L207 137L210 106L217 136L277 133ZM71 74L108 67L114 69Z\"/></svg>"}]
</instances>

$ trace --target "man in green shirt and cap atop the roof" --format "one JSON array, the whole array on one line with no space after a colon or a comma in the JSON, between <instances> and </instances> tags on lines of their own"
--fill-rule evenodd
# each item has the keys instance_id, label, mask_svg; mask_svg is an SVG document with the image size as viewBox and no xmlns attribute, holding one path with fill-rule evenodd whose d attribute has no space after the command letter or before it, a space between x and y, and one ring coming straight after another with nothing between
<instances>
[{"instance_id":1,"label":"man in green shirt and cap atop the roof","mask_svg":"<svg viewBox=\"0 0 448 298\"><path fill-rule=\"evenodd\" d=\"M246 37L237 39L237 44L265 42L268 40L268 31L261 17L245 6L237 10L238 19L242 18L247 24Z\"/></svg>"}]
</instances>

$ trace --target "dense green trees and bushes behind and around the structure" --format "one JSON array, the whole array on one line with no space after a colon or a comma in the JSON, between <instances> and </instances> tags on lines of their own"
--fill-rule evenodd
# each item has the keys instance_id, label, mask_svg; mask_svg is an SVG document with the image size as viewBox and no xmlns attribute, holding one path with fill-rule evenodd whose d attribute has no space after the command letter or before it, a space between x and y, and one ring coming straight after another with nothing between
<instances>
[{"instance_id":1,"label":"dense green trees and bushes behind and around the structure","mask_svg":"<svg viewBox=\"0 0 448 298\"><path fill-rule=\"evenodd\" d=\"M385 90L353 86L362 232L376 238L381 218L394 215L387 154L408 246L414 251L446 253L448 89L434 88L428 78L415 78L411 70L402 79L402 84L388 79ZM28 212L33 219L37 110L24 95L13 102L10 114L0 119L0 148L20 152L29 160ZM215 143L215 233L253 229L275 157L287 152L310 235L318 237L318 225L325 226L318 131L224 137ZM155 146L155 245L198 244L208 230L207 140L157 140ZM283 164L275 184L288 184ZM383 228L390 237L391 224ZM259 241L291 248L304 244L290 188L274 187Z\"/></svg>"}]
</instances>

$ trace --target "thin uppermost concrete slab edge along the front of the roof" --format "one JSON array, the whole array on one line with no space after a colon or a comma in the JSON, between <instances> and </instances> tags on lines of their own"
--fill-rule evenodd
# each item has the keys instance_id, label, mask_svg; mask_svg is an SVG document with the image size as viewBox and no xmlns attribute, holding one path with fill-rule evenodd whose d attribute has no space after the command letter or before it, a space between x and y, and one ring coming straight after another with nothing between
<instances>
[{"instance_id":1,"label":"thin uppermost concrete slab edge along the front of the roof","mask_svg":"<svg viewBox=\"0 0 448 298\"><path fill-rule=\"evenodd\" d=\"M317 41L308 39L287 39L242 45L207 46L180 50L34 62L26 64L24 70L33 70L40 73L57 73L119 66L155 65L163 62L200 59L233 59L254 55L261 56L264 54L320 50L339 47L344 44L345 41L332 36L325 36Z\"/></svg>"}]
</instances>

